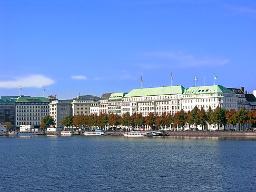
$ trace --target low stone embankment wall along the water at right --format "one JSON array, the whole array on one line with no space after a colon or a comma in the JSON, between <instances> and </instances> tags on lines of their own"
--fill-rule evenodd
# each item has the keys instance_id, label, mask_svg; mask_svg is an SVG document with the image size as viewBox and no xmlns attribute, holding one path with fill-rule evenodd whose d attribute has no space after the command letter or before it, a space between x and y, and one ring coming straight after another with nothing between
<instances>
[{"instance_id":1,"label":"low stone embankment wall along the water at right","mask_svg":"<svg viewBox=\"0 0 256 192\"><path fill-rule=\"evenodd\" d=\"M170 136L189 137L255 137L256 132L168 132Z\"/></svg>"}]
</instances>

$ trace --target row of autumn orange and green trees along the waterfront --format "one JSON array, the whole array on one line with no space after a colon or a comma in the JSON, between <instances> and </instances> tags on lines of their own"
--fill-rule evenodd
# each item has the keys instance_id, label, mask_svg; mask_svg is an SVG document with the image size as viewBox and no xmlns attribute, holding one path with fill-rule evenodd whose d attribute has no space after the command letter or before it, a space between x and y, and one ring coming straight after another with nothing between
<instances>
[{"instance_id":1,"label":"row of autumn orange and green trees along the waterfront","mask_svg":"<svg viewBox=\"0 0 256 192\"><path fill-rule=\"evenodd\" d=\"M54 125L54 119L47 115L42 119L42 128ZM225 109L217 107L212 110L211 107L205 111L202 107L194 107L189 112L180 110L174 115L163 113L155 115L150 113L143 116L141 113L130 115L125 113L122 116L117 114L90 114L66 116L62 125L68 129L107 129L109 130L245 130L246 127L256 127L256 111L247 110L242 107L240 110ZM247 125L247 126L245 126ZM229 128L227 127L229 126Z\"/></svg>"}]
</instances>

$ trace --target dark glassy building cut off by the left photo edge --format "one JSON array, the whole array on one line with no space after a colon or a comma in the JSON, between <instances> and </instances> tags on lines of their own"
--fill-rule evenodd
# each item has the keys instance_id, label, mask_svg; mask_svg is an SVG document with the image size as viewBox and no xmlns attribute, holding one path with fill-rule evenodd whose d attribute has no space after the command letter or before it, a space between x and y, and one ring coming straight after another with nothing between
<instances>
[{"instance_id":1,"label":"dark glassy building cut off by the left photo edge","mask_svg":"<svg viewBox=\"0 0 256 192\"><path fill-rule=\"evenodd\" d=\"M15 97L1 97L0 99L0 123L9 122L15 125Z\"/></svg>"}]
</instances>

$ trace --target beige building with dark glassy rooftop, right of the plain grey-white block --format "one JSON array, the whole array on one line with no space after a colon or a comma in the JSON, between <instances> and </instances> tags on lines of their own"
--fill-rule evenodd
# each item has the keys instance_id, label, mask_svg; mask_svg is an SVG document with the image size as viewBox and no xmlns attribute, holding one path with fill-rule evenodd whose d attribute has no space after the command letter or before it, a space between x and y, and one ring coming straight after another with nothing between
<instances>
[{"instance_id":1,"label":"beige building with dark glassy rooftop, right of the plain grey-white block","mask_svg":"<svg viewBox=\"0 0 256 192\"><path fill-rule=\"evenodd\" d=\"M82 95L77 96L72 100L72 112L73 115L90 114L90 106L93 102L96 102L100 97L94 95Z\"/></svg>"}]
</instances>

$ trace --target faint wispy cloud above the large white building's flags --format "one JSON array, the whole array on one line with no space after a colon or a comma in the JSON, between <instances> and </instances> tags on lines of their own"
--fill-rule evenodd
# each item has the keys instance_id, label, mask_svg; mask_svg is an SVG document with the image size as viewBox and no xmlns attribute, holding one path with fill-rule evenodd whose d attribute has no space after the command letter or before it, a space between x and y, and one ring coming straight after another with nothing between
<instances>
[{"instance_id":1,"label":"faint wispy cloud above the large white building's flags","mask_svg":"<svg viewBox=\"0 0 256 192\"><path fill-rule=\"evenodd\" d=\"M191 54L184 54L182 52L151 52L146 53L147 56L158 57L164 59L164 63L168 65L157 65L160 68L165 66L176 65L178 67L201 67L201 66L222 66L230 62L229 59L214 58L214 57L196 57ZM171 65L170 65L171 64ZM151 64L149 68L152 67Z\"/></svg>"}]
</instances>

